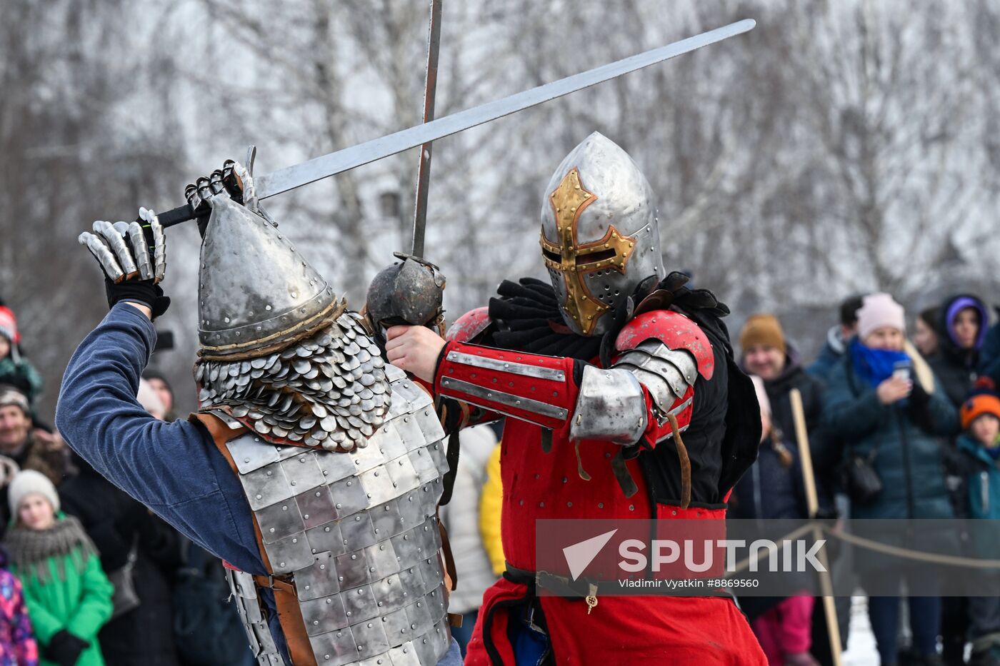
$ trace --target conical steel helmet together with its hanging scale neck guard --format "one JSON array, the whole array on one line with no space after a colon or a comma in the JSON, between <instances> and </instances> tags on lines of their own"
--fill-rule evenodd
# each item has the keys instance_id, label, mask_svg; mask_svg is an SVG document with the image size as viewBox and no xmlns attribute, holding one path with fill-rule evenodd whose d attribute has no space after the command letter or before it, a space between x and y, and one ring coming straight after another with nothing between
<instances>
[{"instance_id":1,"label":"conical steel helmet together with its hanging scale neck guard","mask_svg":"<svg viewBox=\"0 0 1000 666\"><path fill-rule=\"evenodd\" d=\"M272 444L365 446L385 422L391 390L360 316L266 216L226 193L208 202L199 409L222 410Z\"/></svg>"}]
</instances>

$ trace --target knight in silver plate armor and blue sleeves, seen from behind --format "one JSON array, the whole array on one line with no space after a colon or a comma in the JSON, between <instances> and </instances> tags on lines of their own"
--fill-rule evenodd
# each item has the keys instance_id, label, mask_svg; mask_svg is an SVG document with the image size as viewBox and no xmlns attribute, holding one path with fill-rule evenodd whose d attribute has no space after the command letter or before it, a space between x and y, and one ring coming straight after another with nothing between
<instances>
[{"instance_id":1,"label":"knight in silver plate armor and blue sleeves, seen from behind","mask_svg":"<svg viewBox=\"0 0 1000 666\"><path fill-rule=\"evenodd\" d=\"M66 371L57 422L101 474L223 558L262 665L457 664L436 518L448 469L428 392L264 213L247 168L188 188L205 209L200 408L135 400L168 304L155 214L95 223L111 311Z\"/></svg>"}]
</instances>

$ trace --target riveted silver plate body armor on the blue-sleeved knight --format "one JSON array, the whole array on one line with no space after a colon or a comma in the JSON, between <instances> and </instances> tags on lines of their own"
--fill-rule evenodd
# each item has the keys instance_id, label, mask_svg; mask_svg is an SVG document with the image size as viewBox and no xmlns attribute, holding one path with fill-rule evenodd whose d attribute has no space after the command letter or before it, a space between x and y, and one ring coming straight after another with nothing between
<instances>
[{"instance_id":1,"label":"riveted silver plate body armor on the blue-sleeved knight","mask_svg":"<svg viewBox=\"0 0 1000 666\"><path fill-rule=\"evenodd\" d=\"M386 366L389 418L368 446L330 453L227 443L273 575L291 575L316 662L429 666L449 646L435 517L448 470L429 395ZM281 664L249 574L228 571L260 664Z\"/></svg>"}]
</instances>

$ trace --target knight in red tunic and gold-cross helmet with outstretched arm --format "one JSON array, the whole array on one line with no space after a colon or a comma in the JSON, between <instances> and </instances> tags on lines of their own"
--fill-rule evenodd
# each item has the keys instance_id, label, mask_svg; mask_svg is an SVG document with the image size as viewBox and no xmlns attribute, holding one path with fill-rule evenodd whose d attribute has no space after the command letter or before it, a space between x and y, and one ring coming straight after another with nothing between
<instances>
[{"instance_id":1,"label":"knight in red tunic and gold-cross helmet with outstretched arm","mask_svg":"<svg viewBox=\"0 0 1000 666\"><path fill-rule=\"evenodd\" d=\"M720 597L621 597L545 571L536 521L722 521L756 458L752 383L733 361L728 309L667 273L652 189L594 133L544 191L550 283L505 281L447 341L388 331L389 360L433 388L447 431L505 416L504 577L490 588L467 664L766 664L739 609Z\"/></svg>"}]
</instances>

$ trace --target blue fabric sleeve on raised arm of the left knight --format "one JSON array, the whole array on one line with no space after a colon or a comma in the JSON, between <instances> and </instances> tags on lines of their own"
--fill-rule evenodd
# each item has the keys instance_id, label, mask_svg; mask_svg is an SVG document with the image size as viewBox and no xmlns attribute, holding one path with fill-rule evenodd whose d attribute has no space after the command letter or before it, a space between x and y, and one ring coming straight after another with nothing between
<instances>
[{"instance_id":1,"label":"blue fabric sleeve on raised arm of the left knight","mask_svg":"<svg viewBox=\"0 0 1000 666\"><path fill-rule=\"evenodd\" d=\"M211 437L190 421L155 419L135 399L155 343L145 315L125 303L112 308L66 368L56 407L59 432L105 478L205 550L243 571L266 574L250 505ZM274 595L261 590L261 598L290 664Z\"/></svg>"}]
</instances>

